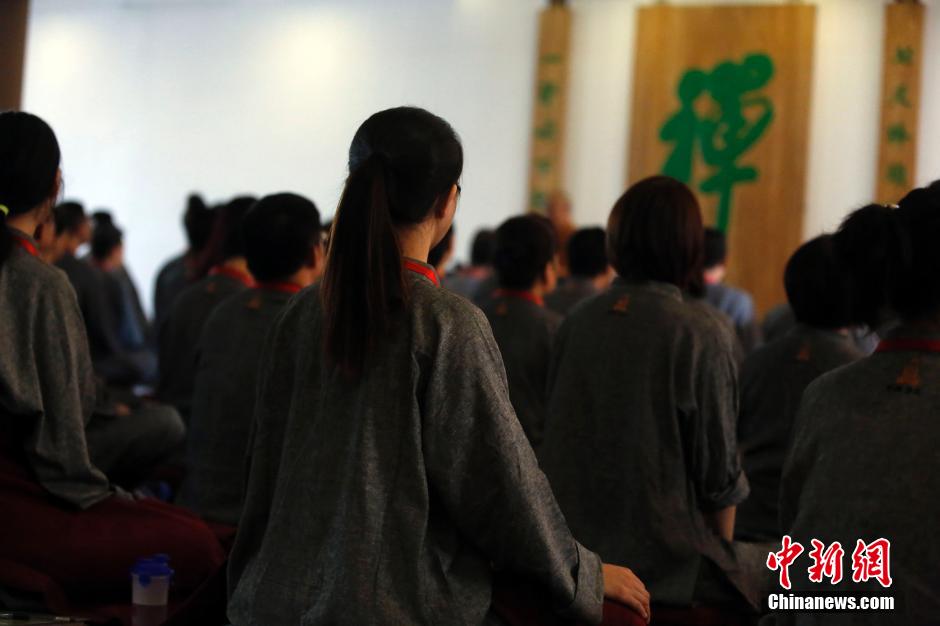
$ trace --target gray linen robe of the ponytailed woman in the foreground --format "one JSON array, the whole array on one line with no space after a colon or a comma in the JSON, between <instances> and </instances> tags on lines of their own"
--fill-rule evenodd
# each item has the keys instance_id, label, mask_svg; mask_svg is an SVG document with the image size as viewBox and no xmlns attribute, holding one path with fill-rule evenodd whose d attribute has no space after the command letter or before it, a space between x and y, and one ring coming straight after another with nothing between
<instances>
[{"instance_id":1,"label":"gray linen robe of the ponytailed woman in the foreground","mask_svg":"<svg viewBox=\"0 0 940 626\"><path fill-rule=\"evenodd\" d=\"M317 287L272 330L229 618L480 624L496 568L600 621L600 561L539 470L486 318L423 276L406 280L397 331L357 383L323 363Z\"/></svg>"}]
</instances>

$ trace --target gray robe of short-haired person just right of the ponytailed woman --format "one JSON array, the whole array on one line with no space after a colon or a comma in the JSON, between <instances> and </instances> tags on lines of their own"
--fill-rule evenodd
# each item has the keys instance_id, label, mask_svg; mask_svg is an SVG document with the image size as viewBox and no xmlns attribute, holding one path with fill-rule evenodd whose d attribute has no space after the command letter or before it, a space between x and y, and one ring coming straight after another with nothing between
<instances>
[{"instance_id":1,"label":"gray robe of short-haired person just right of the ponytailed woman","mask_svg":"<svg viewBox=\"0 0 940 626\"><path fill-rule=\"evenodd\" d=\"M548 404L548 365L561 316L513 296L497 296L483 312L493 329L509 380L509 398L533 448L542 441Z\"/></svg>"}]
</instances>

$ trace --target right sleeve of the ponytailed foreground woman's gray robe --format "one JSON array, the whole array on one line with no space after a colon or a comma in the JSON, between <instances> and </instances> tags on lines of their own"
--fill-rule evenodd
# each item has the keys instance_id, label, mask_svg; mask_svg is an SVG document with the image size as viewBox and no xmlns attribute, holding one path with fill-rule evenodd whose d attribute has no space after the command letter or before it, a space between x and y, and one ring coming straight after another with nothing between
<instances>
[{"instance_id":1,"label":"right sleeve of the ponytailed foreground woman's gray robe","mask_svg":"<svg viewBox=\"0 0 940 626\"><path fill-rule=\"evenodd\" d=\"M486 320L461 322L429 366L423 445L432 491L497 568L540 583L558 613L600 622L600 559L568 530L513 412Z\"/></svg>"}]
</instances>

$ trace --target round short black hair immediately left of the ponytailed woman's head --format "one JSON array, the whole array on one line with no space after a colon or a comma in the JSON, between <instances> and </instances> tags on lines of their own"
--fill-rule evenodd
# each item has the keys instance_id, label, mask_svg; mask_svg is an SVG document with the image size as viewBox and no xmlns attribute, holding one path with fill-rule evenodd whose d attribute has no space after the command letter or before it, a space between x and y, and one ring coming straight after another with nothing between
<instances>
[{"instance_id":1,"label":"round short black hair immediately left of the ponytailed woman's head","mask_svg":"<svg viewBox=\"0 0 940 626\"><path fill-rule=\"evenodd\" d=\"M284 280L310 260L320 243L320 212L303 196L277 193L251 207L242 229L252 276L259 281Z\"/></svg>"}]
</instances>

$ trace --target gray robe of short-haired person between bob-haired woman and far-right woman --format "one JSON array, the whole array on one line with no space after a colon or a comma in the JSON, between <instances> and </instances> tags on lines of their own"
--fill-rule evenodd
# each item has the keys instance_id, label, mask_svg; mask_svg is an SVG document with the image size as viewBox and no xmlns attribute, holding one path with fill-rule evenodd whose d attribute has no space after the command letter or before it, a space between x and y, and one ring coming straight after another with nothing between
<instances>
[{"instance_id":1,"label":"gray robe of short-haired person between bob-haired woman and far-right woman","mask_svg":"<svg viewBox=\"0 0 940 626\"><path fill-rule=\"evenodd\" d=\"M799 324L744 361L738 444L751 495L738 506L736 537L780 540L780 474L803 391L820 375L863 356L848 335Z\"/></svg>"}]
</instances>

